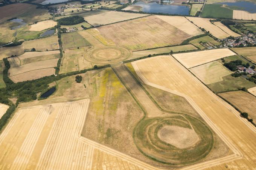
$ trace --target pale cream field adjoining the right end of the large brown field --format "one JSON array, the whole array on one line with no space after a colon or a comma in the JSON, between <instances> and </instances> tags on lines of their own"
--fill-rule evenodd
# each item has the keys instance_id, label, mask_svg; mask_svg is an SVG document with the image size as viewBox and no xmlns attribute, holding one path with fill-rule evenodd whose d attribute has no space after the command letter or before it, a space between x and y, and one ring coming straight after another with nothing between
<instances>
[{"instance_id":1,"label":"pale cream field adjoining the right end of the large brown field","mask_svg":"<svg viewBox=\"0 0 256 170\"><path fill-rule=\"evenodd\" d=\"M157 17L191 36L196 36L204 33L197 26L190 23L189 20L187 20L185 17L164 15L157 15Z\"/></svg>"}]
</instances>

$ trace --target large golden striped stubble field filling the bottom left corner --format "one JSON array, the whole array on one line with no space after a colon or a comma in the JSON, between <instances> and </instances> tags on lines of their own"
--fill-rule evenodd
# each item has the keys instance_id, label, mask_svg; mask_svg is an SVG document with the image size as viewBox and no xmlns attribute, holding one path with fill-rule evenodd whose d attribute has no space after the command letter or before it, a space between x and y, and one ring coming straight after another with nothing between
<instances>
[{"instance_id":1,"label":"large golden striped stubble field filling the bottom left corner","mask_svg":"<svg viewBox=\"0 0 256 170\"><path fill-rule=\"evenodd\" d=\"M1 168L90 169L93 147L80 137L89 102L19 108L0 135Z\"/></svg>"}]
</instances>

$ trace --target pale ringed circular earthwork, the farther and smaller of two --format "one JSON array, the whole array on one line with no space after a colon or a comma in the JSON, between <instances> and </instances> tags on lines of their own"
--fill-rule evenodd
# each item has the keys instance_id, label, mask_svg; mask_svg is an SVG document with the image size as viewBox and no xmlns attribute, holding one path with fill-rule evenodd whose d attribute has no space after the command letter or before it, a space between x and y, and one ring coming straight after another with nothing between
<instances>
[{"instance_id":1,"label":"pale ringed circular earthwork, the farther and smaller of two","mask_svg":"<svg viewBox=\"0 0 256 170\"><path fill-rule=\"evenodd\" d=\"M85 54L85 59L89 62L99 64L112 64L121 62L131 56L131 52L126 48L117 46L107 46L104 48L93 48Z\"/></svg>"}]
</instances>

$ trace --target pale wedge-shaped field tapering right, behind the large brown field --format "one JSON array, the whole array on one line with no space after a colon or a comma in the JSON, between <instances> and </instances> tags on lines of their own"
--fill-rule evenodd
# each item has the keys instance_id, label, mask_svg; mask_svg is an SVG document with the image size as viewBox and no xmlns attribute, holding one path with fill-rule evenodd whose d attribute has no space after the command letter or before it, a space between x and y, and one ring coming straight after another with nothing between
<instances>
[{"instance_id":1,"label":"pale wedge-shaped field tapering right, behind the large brown field","mask_svg":"<svg viewBox=\"0 0 256 170\"><path fill-rule=\"evenodd\" d=\"M144 17L147 15L148 14L135 14L128 12L110 11L84 17L84 20L95 27L105 24L116 23L124 20L130 20L133 18Z\"/></svg>"}]
</instances>

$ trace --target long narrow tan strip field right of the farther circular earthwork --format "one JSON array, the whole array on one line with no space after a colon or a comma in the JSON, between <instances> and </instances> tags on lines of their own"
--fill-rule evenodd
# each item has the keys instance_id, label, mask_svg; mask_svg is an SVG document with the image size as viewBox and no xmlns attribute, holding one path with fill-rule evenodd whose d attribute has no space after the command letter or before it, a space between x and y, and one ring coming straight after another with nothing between
<instances>
[{"instance_id":1,"label":"long narrow tan strip field right of the farther circular earthwork","mask_svg":"<svg viewBox=\"0 0 256 170\"><path fill-rule=\"evenodd\" d=\"M156 48L152 50L143 50L143 51L134 51L132 56L128 59L136 59L139 57L145 57L153 54L162 54L162 53L171 53L171 50L175 53L178 51L190 51L190 50L197 50L197 48L194 45L188 44L188 45L178 45L173 47L163 47L163 48Z\"/></svg>"}]
</instances>

